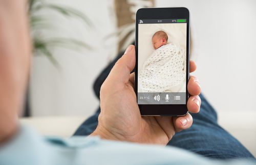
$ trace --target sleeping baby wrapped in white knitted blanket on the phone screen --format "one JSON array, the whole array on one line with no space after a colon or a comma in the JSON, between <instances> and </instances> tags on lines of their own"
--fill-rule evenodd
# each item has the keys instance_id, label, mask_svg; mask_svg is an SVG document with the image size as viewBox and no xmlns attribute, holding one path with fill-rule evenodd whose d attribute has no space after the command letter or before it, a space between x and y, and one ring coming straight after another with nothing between
<instances>
[{"instance_id":1,"label":"sleeping baby wrapped in white knitted blanket on the phone screen","mask_svg":"<svg viewBox=\"0 0 256 165\"><path fill-rule=\"evenodd\" d=\"M177 86L185 85L185 51L167 41L164 31L152 37L155 51L146 59L138 75L138 84L144 92L179 92Z\"/></svg>"}]
</instances>

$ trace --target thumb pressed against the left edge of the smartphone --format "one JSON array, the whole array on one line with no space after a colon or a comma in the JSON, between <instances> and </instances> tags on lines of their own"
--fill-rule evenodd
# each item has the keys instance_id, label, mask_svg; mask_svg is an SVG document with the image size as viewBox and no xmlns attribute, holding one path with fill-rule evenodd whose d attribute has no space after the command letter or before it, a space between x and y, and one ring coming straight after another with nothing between
<instances>
[{"instance_id":1,"label":"thumb pressed against the left edge of the smartphone","mask_svg":"<svg viewBox=\"0 0 256 165\"><path fill-rule=\"evenodd\" d=\"M129 45L123 56L115 63L108 76L108 81L112 84L125 84L129 81L130 74L135 67L135 47Z\"/></svg>"}]
</instances>

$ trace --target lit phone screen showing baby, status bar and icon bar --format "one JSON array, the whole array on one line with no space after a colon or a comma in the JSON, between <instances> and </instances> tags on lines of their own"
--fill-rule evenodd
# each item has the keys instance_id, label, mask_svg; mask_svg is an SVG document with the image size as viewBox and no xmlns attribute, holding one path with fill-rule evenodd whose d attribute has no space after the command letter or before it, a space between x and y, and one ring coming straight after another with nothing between
<instances>
[{"instance_id":1,"label":"lit phone screen showing baby, status bar and icon bar","mask_svg":"<svg viewBox=\"0 0 256 165\"><path fill-rule=\"evenodd\" d=\"M138 21L138 104L186 104L186 19Z\"/></svg>"}]
</instances>

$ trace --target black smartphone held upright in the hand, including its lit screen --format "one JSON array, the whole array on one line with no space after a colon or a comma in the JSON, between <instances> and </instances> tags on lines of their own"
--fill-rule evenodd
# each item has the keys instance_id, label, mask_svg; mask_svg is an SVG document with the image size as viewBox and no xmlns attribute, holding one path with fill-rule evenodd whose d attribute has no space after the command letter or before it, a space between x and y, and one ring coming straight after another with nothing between
<instances>
[{"instance_id":1,"label":"black smartphone held upright in the hand, including its lit screen","mask_svg":"<svg viewBox=\"0 0 256 165\"><path fill-rule=\"evenodd\" d=\"M188 9L139 9L135 48L135 92L141 115L185 115L189 97Z\"/></svg>"}]
</instances>

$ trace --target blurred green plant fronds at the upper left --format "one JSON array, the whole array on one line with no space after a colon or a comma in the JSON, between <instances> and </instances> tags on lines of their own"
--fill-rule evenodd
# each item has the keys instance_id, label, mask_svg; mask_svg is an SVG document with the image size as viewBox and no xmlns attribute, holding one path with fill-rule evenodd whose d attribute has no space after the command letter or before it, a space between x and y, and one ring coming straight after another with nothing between
<instances>
[{"instance_id":1,"label":"blurred green plant fronds at the upper left","mask_svg":"<svg viewBox=\"0 0 256 165\"><path fill-rule=\"evenodd\" d=\"M40 32L46 29L54 31L53 26L51 26L50 21L46 16L42 15L40 10L50 9L60 13L63 16L69 16L81 19L87 26L92 26L90 19L83 13L65 6L58 6L54 4L48 4L44 0L29 0L29 15L30 15L30 27L31 35L33 39L33 46L35 55L39 52L40 54L46 55L46 57L53 63L53 65L59 67L57 60L54 58L52 48L58 47L63 49L71 49L77 51L79 48L91 49L91 46L83 41L73 39L73 38L44 38L40 36Z\"/></svg>"}]
</instances>

